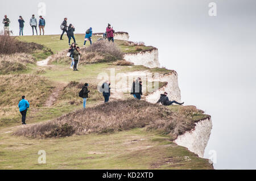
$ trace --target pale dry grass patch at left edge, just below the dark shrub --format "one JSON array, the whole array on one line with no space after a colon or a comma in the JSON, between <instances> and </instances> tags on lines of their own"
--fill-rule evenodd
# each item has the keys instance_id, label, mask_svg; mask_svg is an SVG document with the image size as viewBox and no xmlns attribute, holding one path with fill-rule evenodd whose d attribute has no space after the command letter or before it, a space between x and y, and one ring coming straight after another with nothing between
<instances>
[{"instance_id":1,"label":"pale dry grass patch at left edge, just below the dark shrub","mask_svg":"<svg viewBox=\"0 0 256 181\"><path fill-rule=\"evenodd\" d=\"M0 74L26 70L27 64L35 62L35 58L26 53L0 54Z\"/></svg>"}]
</instances>

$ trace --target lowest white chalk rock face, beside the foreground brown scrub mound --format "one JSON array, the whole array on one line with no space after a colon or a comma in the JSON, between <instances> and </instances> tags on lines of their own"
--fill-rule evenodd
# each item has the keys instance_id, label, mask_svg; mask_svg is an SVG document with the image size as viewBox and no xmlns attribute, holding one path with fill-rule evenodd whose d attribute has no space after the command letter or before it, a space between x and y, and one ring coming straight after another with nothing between
<instances>
[{"instance_id":1,"label":"lowest white chalk rock face, beside the foreground brown scrub mound","mask_svg":"<svg viewBox=\"0 0 256 181\"><path fill-rule=\"evenodd\" d=\"M174 141L177 145L188 148L199 157L204 158L204 151L208 144L210 133L212 131L212 120L205 119L196 123L196 127L177 137Z\"/></svg>"}]
</instances>

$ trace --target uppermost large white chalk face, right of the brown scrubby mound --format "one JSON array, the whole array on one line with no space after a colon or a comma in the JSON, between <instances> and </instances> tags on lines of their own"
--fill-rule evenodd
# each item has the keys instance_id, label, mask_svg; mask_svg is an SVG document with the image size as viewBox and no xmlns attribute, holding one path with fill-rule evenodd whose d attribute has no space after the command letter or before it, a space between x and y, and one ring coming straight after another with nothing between
<instances>
[{"instance_id":1,"label":"uppermost large white chalk face, right of the brown scrubby mound","mask_svg":"<svg viewBox=\"0 0 256 181\"><path fill-rule=\"evenodd\" d=\"M158 49L144 50L138 53L126 53L124 59L134 65L143 65L148 68L159 68Z\"/></svg>"}]
</instances>

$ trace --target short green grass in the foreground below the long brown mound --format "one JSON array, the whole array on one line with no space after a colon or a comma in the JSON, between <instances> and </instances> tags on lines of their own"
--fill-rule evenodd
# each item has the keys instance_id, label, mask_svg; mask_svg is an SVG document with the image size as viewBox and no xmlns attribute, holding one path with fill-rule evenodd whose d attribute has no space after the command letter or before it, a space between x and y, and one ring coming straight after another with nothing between
<instances>
[{"instance_id":1,"label":"short green grass in the foreground below the long brown mound","mask_svg":"<svg viewBox=\"0 0 256 181\"><path fill-rule=\"evenodd\" d=\"M44 140L5 133L0 139L0 169L212 169L168 137L143 129ZM38 163L39 150L46 151L46 164Z\"/></svg>"}]
</instances>

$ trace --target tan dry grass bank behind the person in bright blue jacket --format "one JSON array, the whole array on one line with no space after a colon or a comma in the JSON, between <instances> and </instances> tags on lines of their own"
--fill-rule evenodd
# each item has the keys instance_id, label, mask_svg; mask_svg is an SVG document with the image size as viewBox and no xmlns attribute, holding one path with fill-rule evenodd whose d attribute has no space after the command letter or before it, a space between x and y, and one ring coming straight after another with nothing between
<instances>
[{"instance_id":1,"label":"tan dry grass bank behind the person in bright blue jacket","mask_svg":"<svg viewBox=\"0 0 256 181\"><path fill-rule=\"evenodd\" d=\"M41 107L51 94L50 82L38 75L0 76L0 125L19 115L18 103L25 95L31 107Z\"/></svg>"}]
</instances>

